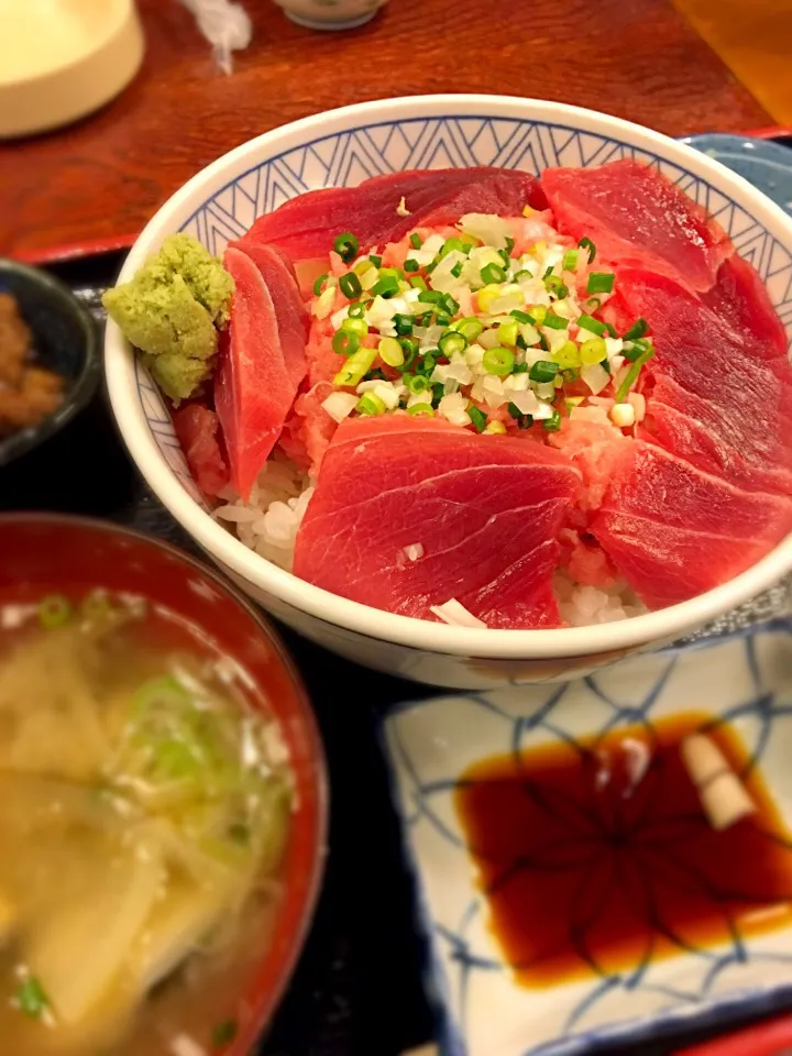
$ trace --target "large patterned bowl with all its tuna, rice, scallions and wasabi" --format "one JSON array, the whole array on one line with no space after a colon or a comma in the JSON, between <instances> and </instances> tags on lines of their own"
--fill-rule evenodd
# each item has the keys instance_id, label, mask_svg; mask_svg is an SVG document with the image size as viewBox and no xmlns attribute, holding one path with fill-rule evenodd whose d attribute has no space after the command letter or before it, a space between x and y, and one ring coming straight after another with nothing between
<instances>
[{"instance_id":1,"label":"large patterned bowl with all its tuna, rice, scallions and wasabi","mask_svg":"<svg viewBox=\"0 0 792 1056\"><path fill-rule=\"evenodd\" d=\"M160 210L106 296L108 382L276 616L419 681L559 679L792 568L791 283L789 218L662 135L365 103Z\"/></svg>"}]
</instances>

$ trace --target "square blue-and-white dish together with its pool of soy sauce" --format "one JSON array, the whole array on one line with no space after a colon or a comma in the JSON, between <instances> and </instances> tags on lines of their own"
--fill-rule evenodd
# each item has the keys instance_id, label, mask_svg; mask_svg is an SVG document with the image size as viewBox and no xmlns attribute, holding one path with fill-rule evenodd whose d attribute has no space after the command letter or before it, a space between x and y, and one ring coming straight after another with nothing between
<instances>
[{"instance_id":1,"label":"square blue-and-white dish together with its pool of soy sauce","mask_svg":"<svg viewBox=\"0 0 792 1056\"><path fill-rule=\"evenodd\" d=\"M384 737L442 1056L610 1052L789 1000L792 620L405 704Z\"/></svg>"}]
</instances>

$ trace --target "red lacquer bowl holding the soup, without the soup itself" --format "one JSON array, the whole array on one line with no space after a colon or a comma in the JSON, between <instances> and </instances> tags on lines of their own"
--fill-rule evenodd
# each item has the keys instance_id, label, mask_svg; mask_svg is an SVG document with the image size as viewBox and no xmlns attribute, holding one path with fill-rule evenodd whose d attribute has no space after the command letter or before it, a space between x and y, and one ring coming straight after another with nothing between
<instances>
[{"instance_id":1,"label":"red lacquer bowl holding the soup, without the soup itself","mask_svg":"<svg viewBox=\"0 0 792 1056\"><path fill-rule=\"evenodd\" d=\"M266 936L245 935L250 968L233 991L231 1007L223 1009L235 1024L235 1036L215 1046L204 1044L211 1056L221 1052L244 1056L283 996L320 887L328 793L314 715L273 628L199 561L167 543L100 521L46 514L0 516L1 605L95 587L146 597L177 622L187 622L201 649L235 661L250 676L246 695L254 705L265 702L290 754L296 794L280 902Z\"/></svg>"}]
</instances>

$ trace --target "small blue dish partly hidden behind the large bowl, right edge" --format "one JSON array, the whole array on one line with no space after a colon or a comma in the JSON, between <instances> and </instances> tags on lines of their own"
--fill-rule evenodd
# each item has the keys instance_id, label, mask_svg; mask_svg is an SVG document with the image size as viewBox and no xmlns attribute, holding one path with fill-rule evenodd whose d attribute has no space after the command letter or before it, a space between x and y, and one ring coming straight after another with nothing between
<instances>
[{"instance_id":1,"label":"small blue dish partly hidden behind the large bowl, right edge","mask_svg":"<svg viewBox=\"0 0 792 1056\"><path fill-rule=\"evenodd\" d=\"M792 151L772 140L706 132L683 143L745 177L792 217Z\"/></svg>"}]
</instances>

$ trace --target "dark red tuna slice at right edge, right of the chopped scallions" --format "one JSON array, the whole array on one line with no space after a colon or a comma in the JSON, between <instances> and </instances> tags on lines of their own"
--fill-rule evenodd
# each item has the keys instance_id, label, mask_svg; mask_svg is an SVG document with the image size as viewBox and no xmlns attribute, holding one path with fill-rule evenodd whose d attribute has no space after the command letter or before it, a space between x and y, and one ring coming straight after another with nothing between
<instances>
[{"instance_id":1,"label":"dark red tuna slice at right edge, right of the chopped scallions","mask_svg":"<svg viewBox=\"0 0 792 1056\"><path fill-rule=\"evenodd\" d=\"M792 495L792 367L785 346L767 340L763 301L746 295L739 315L718 315L672 279L631 268L618 270L618 289L657 349L639 435L738 487Z\"/></svg>"}]
</instances>

